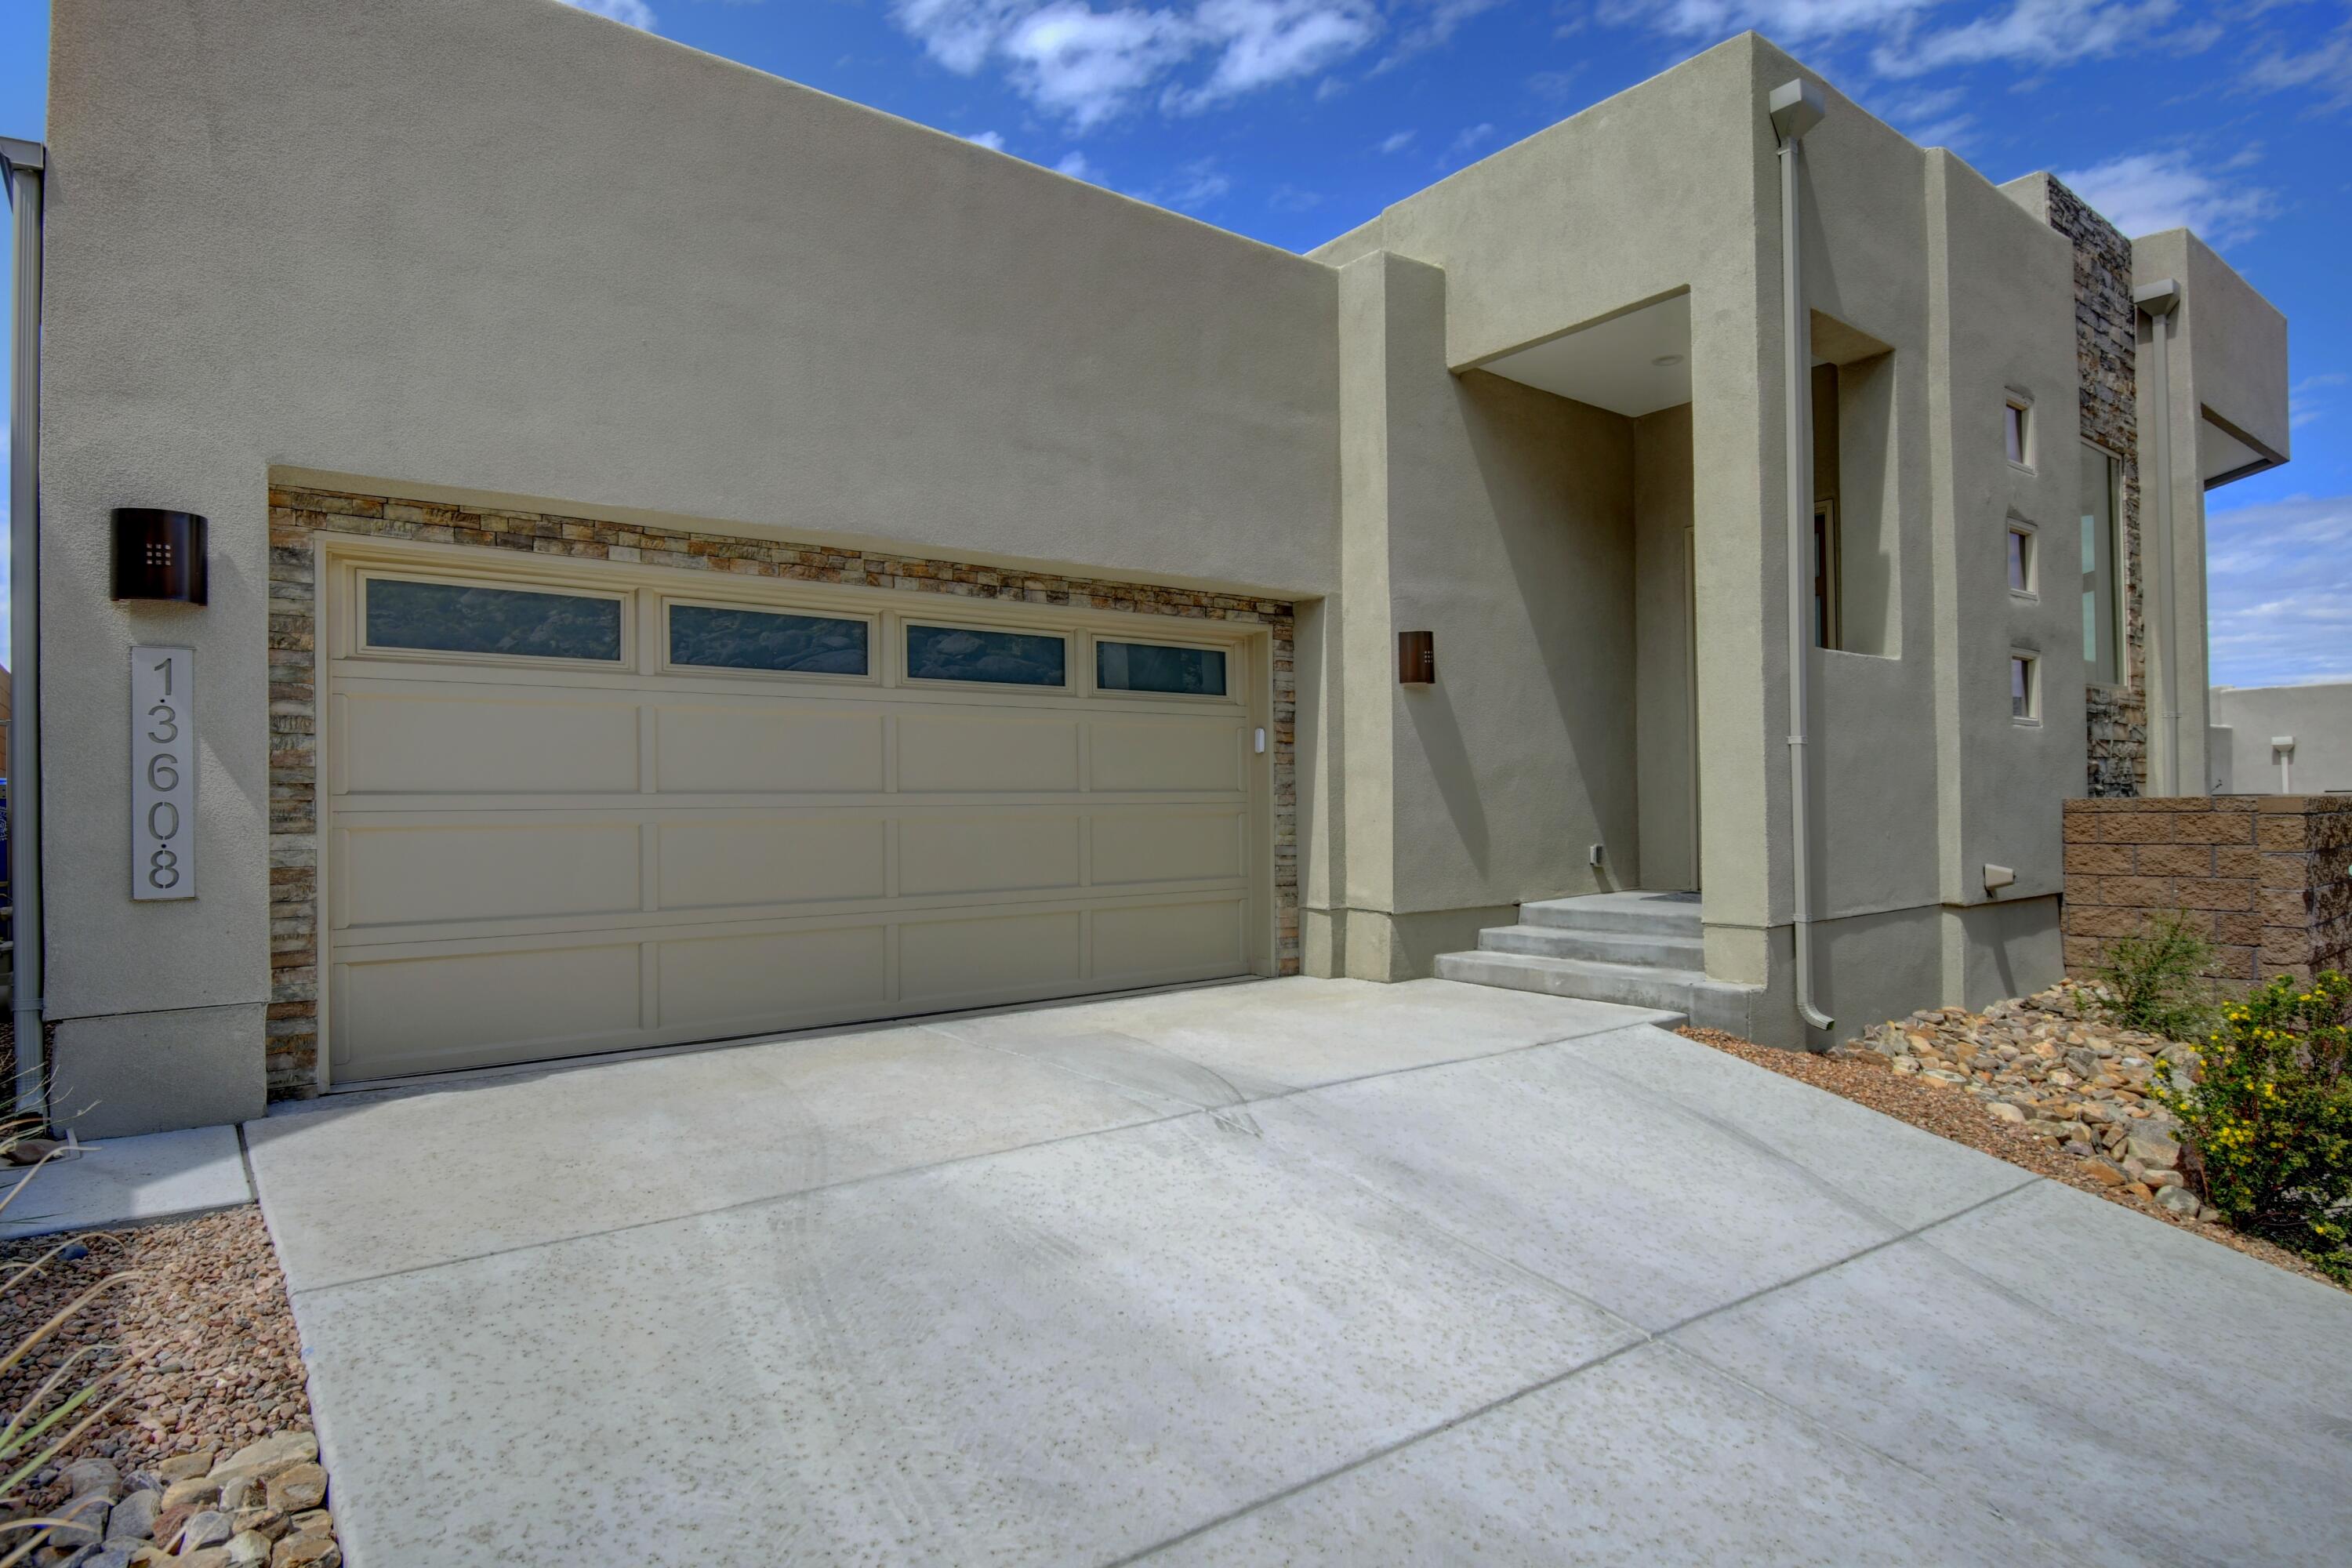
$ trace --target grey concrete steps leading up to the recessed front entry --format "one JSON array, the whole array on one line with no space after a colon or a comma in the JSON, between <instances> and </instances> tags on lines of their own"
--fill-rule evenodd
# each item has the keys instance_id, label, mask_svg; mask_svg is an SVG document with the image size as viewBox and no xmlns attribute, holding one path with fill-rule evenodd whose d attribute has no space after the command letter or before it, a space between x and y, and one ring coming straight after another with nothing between
<instances>
[{"instance_id":1,"label":"grey concrete steps leading up to the recessed front entry","mask_svg":"<svg viewBox=\"0 0 2352 1568\"><path fill-rule=\"evenodd\" d=\"M1472 985L1621 1001L1750 1034L1759 985L1708 978L1698 893L1590 893L1519 905L1519 924L1479 931L1475 952L1437 959L1437 976Z\"/></svg>"}]
</instances>

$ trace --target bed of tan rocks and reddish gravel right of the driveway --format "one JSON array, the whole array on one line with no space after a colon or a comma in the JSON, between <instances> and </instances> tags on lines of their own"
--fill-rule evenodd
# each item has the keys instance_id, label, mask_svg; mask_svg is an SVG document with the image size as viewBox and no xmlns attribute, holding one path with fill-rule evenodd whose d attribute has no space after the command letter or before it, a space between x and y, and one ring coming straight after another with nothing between
<instances>
[{"instance_id":1,"label":"bed of tan rocks and reddish gravel right of the driveway","mask_svg":"<svg viewBox=\"0 0 2352 1568\"><path fill-rule=\"evenodd\" d=\"M2154 1063L2171 1060L2180 1046L2103 1023L2093 1011L2074 987L2058 985L1983 1013L1926 1009L1818 1056L1776 1051L1722 1030L1677 1034L2249 1258L2336 1284L2291 1251L2230 1229L2194 1201L2171 1164L2178 1159L2173 1121L2138 1088Z\"/></svg>"}]
</instances>

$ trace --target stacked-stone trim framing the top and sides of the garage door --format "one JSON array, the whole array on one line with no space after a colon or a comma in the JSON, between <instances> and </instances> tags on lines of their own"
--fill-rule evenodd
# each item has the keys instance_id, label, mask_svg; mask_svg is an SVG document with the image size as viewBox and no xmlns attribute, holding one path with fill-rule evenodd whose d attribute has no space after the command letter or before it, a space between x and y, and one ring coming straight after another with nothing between
<instances>
[{"instance_id":1,"label":"stacked-stone trim framing the top and sides of the garage door","mask_svg":"<svg viewBox=\"0 0 2352 1568\"><path fill-rule=\"evenodd\" d=\"M1275 757L1275 954L1298 973L1296 616L1279 599L1065 578L835 545L501 512L397 496L270 489L270 1098L318 1093L318 534L419 538L569 559L616 559L802 583L1117 609L1270 628Z\"/></svg>"}]
</instances>

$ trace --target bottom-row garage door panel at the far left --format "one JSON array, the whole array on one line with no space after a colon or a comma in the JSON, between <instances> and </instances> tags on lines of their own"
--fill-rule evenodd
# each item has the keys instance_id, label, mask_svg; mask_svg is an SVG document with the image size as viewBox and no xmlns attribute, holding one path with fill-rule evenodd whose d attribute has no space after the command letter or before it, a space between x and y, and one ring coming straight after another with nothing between
<instances>
[{"instance_id":1,"label":"bottom-row garage door panel at the far left","mask_svg":"<svg viewBox=\"0 0 2352 1568\"><path fill-rule=\"evenodd\" d=\"M339 964L336 1079L527 1063L630 1044L637 945Z\"/></svg>"}]
</instances>

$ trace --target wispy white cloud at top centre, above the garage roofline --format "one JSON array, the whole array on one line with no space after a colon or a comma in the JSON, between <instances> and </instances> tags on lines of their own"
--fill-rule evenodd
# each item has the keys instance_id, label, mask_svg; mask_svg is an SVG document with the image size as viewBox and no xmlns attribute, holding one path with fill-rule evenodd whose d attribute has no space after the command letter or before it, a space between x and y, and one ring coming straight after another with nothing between
<instances>
[{"instance_id":1,"label":"wispy white cloud at top centre, above the garage roofline","mask_svg":"<svg viewBox=\"0 0 2352 1568\"><path fill-rule=\"evenodd\" d=\"M1376 0L894 0L891 21L948 71L1000 66L1080 132L1155 92L1192 113L1317 75L1385 26Z\"/></svg>"}]
</instances>

